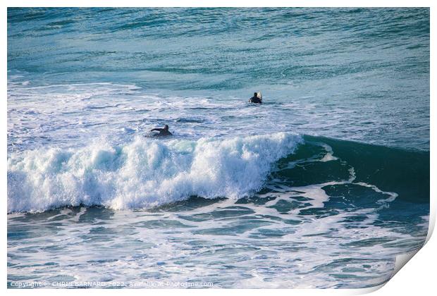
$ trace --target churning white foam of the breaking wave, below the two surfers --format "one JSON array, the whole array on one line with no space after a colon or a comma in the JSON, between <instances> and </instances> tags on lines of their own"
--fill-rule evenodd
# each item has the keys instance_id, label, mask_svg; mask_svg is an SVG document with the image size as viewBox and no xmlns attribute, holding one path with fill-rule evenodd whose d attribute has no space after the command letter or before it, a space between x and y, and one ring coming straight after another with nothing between
<instances>
[{"instance_id":1,"label":"churning white foam of the breaking wave, below the two surfers","mask_svg":"<svg viewBox=\"0 0 437 296\"><path fill-rule=\"evenodd\" d=\"M261 189L271 166L295 151L300 135L197 141L136 137L113 147L38 149L8 156L8 213L61 206L139 209L201 197L238 199Z\"/></svg>"}]
</instances>

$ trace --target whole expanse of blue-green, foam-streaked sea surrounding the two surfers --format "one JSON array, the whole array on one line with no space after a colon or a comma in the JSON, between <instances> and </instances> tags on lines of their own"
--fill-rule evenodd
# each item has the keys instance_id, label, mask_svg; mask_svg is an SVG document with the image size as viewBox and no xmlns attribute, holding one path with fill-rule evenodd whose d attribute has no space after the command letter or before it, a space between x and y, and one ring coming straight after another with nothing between
<instances>
[{"instance_id":1,"label":"whole expanse of blue-green, foam-streaked sea surrounding the two surfers","mask_svg":"<svg viewBox=\"0 0 437 296\"><path fill-rule=\"evenodd\" d=\"M429 168L428 8L8 8L10 288L385 283Z\"/></svg>"}]
</instances>

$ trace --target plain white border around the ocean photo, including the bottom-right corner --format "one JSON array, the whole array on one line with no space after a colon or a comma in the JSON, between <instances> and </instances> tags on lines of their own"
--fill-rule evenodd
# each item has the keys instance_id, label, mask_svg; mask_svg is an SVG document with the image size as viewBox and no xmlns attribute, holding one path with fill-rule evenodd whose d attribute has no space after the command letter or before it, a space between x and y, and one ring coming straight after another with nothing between
<instances>
[{"instance_id":1,"label":"plain white border around the ocean photo, including the bottom-right corner","mask_svg":"<svg viewBox=\"0 0 437 296\"><path fill-rule=\"evenodd\" d=\"M297 6L297 7L430 7L430 30L431 30L431 40L430 40L430 82L433 81L433 78L436 77L435 75L435 58L434 54L436 51L436 32L435 32L435 25L436 21L434 18L434 10L435 5L433 5L433 2L431 0L415 0L415 1L407 1L407 0L356 0L356 1L346 1L346 0L333 0L333 1L321 1L321 0L300 0L300 1L280 1L280 0L269 0L269 1L261 1L261 0L252 0L252 1L242 1L242 0L233 0L233 1L211 1L211 0L183 0L183 1L172 1L172 0L153 0L153 1L135 1L135 0L123 0L123 1L116 1L116 0L63 0L63 1L49 1L49 0L4 0L2 1L2 10L1 15L3 16L0 30L1 30L1 51L2 51L2 58L1 58L1 68L3 69L1 71L1 93L3 94L3 99L1 100L1 108L0 108L0 118L1 118L1 125L3 126L3 136L1 137L1 152L3 153L3 157L1 158L1 172L3 175L2 183L3 186L0 186L0 192L1 192L1 199L2 199L2 209L4 213L6 214L7 209L7 7L41 7L41 6L49 6L49 7L61 7L61 6L80 6L80 7L110 7L110 6L118 6L118 7L140 7L140 6L149 6L149 7L171 7L171 6L197 6L197 7L218 7L218 6L237 6L237 7L260 7L260 6L282 6L282 7L288 7L288 6ZM432 153L432 147L435 147L435 123L432 114L434 114L435 109L435 103L433 103L433 99L435 99L435 87L433 85L430 85L430 114L431 114L431 168L436 168L436 158L434 157L434 154ZM433 173L431 170L431 192L430 192L430 226L429 226L429 233L427 237L427 241L431 238L431 234L433 233L433 228L435 226L436 221L436 186L433 181L436 180L436 174ZM7 216L4 216L4 220L2 221L4 223L2 230L2 237L3 237L3 249L4 249L4 257L1 257L3 260L1 260L1 264L3 267L3 274L4 279L7 278ZM436 290L436 284L435 281L435 264L436 261L436 254L434 250L437 250L437 242L436 239L433 238L429 240L426 243L426 246L422 248L419 253L414 256L414 258L411 259L411 262L407 264L406 268L403 268L399 271L396 276L394 276L391 280L386 283L386 287L378 290L383 285L376 286L373 288L364 288L364 289L339 289L339 290L333 290L333 289L326 289L326 290L281 290L281 289L271 289L268 292L273 293L275 295L360 295L367 292L373 292L375 290L378 290L374 295L411 295L412 293L416 295L429 295L431 291ZM59 290L54 289L38 289L38 290L14 290L14 289L7 289L6 288L6 282L3 284L3 288L7 290L8 293L11 294L27 294L31 291L34 295L54 295L55 293L59 292ZM80 292L85 293L98 293L98 294L107 294L107 293L116 293L118 290L97 290L97 289L88 289L88 290L80 290ZM72 294L77 293L79 290L67 290L63 289L61 290L62 293ZM226 292L226 294L231 295L240 295L242 292L250 292L251 296L257 296L257 295L263 295L265 292L267 292L265 289L254 289L254 290L238 290L238 289L227 289L226 291L223 291L221 289L199 289L199 290L156 290L153 291L139 289L139 290L132 290L132 289L123 289L123 295L125 293L133 293L133 294L144 294L144 292L151 292L154 295L166 295L167 293L178 293L182 295L204 295L205 293L208 295L221 295L223 292ZM118 292L120 293L120 292ZM263 295L264 296L264 295Z\"/></svg>"}]
</instances>

